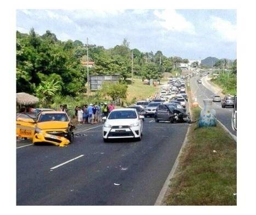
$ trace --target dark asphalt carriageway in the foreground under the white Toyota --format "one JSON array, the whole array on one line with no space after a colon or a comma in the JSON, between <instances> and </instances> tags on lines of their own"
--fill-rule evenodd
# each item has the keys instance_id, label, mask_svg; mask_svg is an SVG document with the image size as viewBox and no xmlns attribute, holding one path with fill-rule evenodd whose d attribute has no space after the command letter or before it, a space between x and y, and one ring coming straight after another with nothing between
<instances>
[{"instance_id":1,"label":"dark asphalt carriageway in the foreground under the white Toyota","mask_svg":"<svg viewBox=\"0 0 256 215\"><path fill-rule=\"evenodd\" d=\"M138 142L104 143L100 126L67 147L17 148L16 204L154 205L187 127L146 118Z\"/></svg>"}]
</instances>

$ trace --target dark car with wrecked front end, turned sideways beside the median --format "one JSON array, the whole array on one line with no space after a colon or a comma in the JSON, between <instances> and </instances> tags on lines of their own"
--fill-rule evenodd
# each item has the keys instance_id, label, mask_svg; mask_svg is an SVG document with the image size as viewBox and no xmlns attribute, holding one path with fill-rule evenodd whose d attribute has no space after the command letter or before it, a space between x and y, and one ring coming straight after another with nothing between
<instances>
[{"instance_id":1,"label":"dark car with wrecked front end, turned sideways beside the median","mask_svg":"<svg viewBox=\"0 0 256 215\"><path fill-rule=\"evenodd\" d=\"M160 120L185 122L189 120L189 116L183 111L183 109L177 109L172 103L158 105L155 113L155 121L158 123Z\"/></svg>"}]
</instances>

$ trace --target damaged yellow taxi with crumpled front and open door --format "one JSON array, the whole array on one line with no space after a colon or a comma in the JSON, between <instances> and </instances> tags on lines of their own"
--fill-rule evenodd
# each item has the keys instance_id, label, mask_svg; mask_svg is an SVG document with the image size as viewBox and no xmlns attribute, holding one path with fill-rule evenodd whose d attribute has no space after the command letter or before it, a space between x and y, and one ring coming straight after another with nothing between
<instances>
[{"instance_id":1,"label":"damaged yellow taxi with crumpled front and open door","mask_svg":"<svg viewBox=\"0 0 256 215\"><path fill-rule=\"evenodd\" d=\"M25 113L16 115L16 136L31 138L34 144L65 146L74 140L73 129L69 116L62 111L42 111L35 118Z\"/></svg>"}]
</instances>

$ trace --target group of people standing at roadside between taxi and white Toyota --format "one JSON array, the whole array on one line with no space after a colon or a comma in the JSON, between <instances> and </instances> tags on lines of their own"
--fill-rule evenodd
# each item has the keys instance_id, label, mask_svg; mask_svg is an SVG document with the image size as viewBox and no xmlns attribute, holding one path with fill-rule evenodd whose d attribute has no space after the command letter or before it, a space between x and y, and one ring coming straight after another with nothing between
<instances>
[{"instance_id":1,"label":"group of people standing at roadside between taxi and white Toyota","mask_svg":"<svg viewBox=\"0 0 256 215\"><path fill-rule=\"evenodd\" d=\"M77 123L100 123L102 121L102 118L107 117L113 109L115 109L113 102L111 102L110 104L101 102L96 104L90 103L89 106L87 104L84 104L82 108L76 106L75 115Z\"/></svg>"}]
</instances>

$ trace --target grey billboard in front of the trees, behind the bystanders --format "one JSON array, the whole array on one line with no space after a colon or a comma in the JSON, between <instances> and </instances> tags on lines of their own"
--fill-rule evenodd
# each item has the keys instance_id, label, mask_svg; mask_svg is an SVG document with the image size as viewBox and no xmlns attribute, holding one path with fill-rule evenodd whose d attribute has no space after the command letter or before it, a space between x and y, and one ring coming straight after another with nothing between
<instances>
[{"instance_id":1,"label":"grey billboard in front of the trees, behind the bystanders","mask_svg":"<svg viewBox=\"0 0 256 215\"><path fill-rule=\"evenodd\" d=\"M115 83L119 82L120 75L90 75L90 90L99 90L103 82Z\"/></svg>"}]
</instances>

